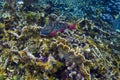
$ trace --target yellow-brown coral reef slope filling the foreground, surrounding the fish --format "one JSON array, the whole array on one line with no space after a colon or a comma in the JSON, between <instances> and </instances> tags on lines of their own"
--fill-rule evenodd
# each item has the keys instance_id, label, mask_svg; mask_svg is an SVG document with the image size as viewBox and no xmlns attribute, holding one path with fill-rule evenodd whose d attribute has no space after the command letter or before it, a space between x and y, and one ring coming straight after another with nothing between
<instances>
[{"instance_id":1,"label":"yellow-brown coral reef slope filling the foreground, surrounding the fish","mask_svg":"<svg viewBox=\"0 0 120 80\"><path fill-rule=\"evenodd\" d=\"M119 80L120 32L68 15L74 29L43 36L44 25L61 20L55 13L0 11L0 80Z\"/></svg>"}]
</instances>

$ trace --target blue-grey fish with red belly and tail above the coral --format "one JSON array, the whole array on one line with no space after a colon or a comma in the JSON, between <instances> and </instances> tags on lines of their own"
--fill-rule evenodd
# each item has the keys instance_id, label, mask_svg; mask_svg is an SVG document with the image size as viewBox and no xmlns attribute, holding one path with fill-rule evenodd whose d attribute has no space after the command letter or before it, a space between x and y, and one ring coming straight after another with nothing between
<instances>
[{"instance_id":1,"label":"blue-grey fish with red belly and tail above the coral","mask_svg":"<svg viewBox=\"0 0 120 80\"><path fill-rule=\"evenodd\" d=\"M76 28L76 24L69 24L66 22L55 21L44 26L40 31L41 35L55 36L57 32L64 32L65 29L73 30Z\"/></svg>"}]
</instances>

